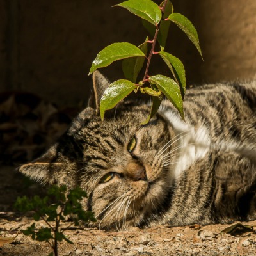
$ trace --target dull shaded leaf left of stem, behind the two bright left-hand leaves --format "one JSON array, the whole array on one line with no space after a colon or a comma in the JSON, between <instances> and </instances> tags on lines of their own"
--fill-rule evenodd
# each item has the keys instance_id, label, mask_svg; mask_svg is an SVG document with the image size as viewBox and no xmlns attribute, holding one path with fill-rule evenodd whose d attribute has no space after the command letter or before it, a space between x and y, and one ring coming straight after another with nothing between
<instances>
[{"instance_id":1,"label":"dull shaded leaf left of stem, behind the two bright left-hand leaves","mask_svg":"<svg viewBox=\"0 0 256 256\"><path fill-rule=\"evenodd\" d=\"M148 37L145 42L138 46L139 49L146 55L148 52ZM127 58L123 60L122 68L124 72L124 76L127 80L136 83L138 74L140 73L141 68L143 67L145 58L136 57L136 58Z\"/></svg>"}]
</instances>

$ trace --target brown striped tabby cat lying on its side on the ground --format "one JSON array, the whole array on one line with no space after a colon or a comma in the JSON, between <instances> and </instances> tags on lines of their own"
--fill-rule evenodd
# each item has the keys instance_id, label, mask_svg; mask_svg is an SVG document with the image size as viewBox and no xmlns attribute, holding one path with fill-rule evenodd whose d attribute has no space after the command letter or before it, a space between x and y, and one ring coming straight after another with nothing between
<instances>
[{"instance_id":1,"label":"brown striped tabby cat lying on its side on the ground","mask_svg":"<svg viewBox=\"0 0 256 256\"><path fill-rule=\"evenodd\" d=\"M42 184L81 186L98 227L256 219L256 81L187 90L184 122L168 100L125 101L100 120L109 81L93 73L88 106L68 131L19 168Z\"/></svg>"}]
</instances>

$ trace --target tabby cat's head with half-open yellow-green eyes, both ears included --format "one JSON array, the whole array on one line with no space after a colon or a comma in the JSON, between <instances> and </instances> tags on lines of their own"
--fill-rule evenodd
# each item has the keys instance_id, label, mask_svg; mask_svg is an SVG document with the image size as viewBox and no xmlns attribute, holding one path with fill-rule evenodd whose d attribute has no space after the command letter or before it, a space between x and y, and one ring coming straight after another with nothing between
<instances>
[{"instance_id":1,"label":"tabby cat's head with half-open yellow-green eyes, both ears included","mask_svg":"<svg viewBox=\"0 0 256 256\"><path fill-rule=\"evenodd\" d=\"M101 227L140 225L161 214L169 201L170 124L157 114L141 125L150 106L136 102L122 102L102 122L99 101L109 82L95 72L93 85L89 106L68 131L19 170L43 184L81 186L88 193L84 209L95 213Z\"/></svg>"}]
</instances>

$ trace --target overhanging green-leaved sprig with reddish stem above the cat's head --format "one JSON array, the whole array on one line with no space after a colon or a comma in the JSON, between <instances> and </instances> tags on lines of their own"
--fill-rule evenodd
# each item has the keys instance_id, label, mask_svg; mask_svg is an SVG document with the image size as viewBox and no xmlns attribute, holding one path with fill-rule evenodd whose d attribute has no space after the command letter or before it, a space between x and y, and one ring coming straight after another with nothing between
<instances>
[{"instance_id":1,"label":"overhanging green-leaved sprig with reddish stem above the cat's head","mask_svg":"<svg viewBox=\"0 0 256 256\"><path fill-rule=\"evenodd\" d=\"M147 93L152 97L150 115L143 124L147 124L150 118L157 112L163 95L172 102L173 106L179 111L180 116L184 119L183 99L186 91L184 66L178 58L165 52L164 47L170 23L173 22L186 33L202 56L195 27L184 15L173 12L173 5L170 0L164 0L159 6L151 0L128 0L116 6L126 8L141 17L143 26L154 37L152 40L148 40L147 37L145 42L138 47L127 42L114 43L105 47L97 54L89 74L92 74L97 68L110 65L113 61L124 59L122 67L125 79L111 83L100 100L100 116L102 120L106 110L114 108L118 102L127 97L132 91L135 93L138 91ZM159 51L156 51L157 42L159 44ZM148 44L151 44L149 53ZM170 68L173 79L161 74L154 76L148 74L153 55L160 56L164 60L168 68ZM145 59L147 60L147 65L143 79L137 81Z\"/></svg>"}]
</instances>

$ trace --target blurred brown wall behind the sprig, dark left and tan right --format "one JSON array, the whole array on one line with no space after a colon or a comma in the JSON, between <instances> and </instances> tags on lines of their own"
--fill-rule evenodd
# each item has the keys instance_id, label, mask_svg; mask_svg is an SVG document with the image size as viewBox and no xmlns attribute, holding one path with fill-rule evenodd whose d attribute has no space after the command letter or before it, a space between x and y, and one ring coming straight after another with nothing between
<instances>
[{"instance_id":1,"label":"blurred brown wall behind the sprig, dark left and tan right","mask_svg":"<svg viewBox=\"0 0 256 256\"><path fill-rule=\"evenodd\" d=\"M111 7L120 2L0 0L0 92L31 92L59 106L86 102L97 53L113 42L139 45L147 36L140 18ZM203 62L171 25L166 51L182 60L188 84L255 79L255 0L172 2L195 25L204 56ZM168 72L162 60L152 68ZM111 81L123 78L120 62L100 71Z\"/></svg>"}]
</instances>

